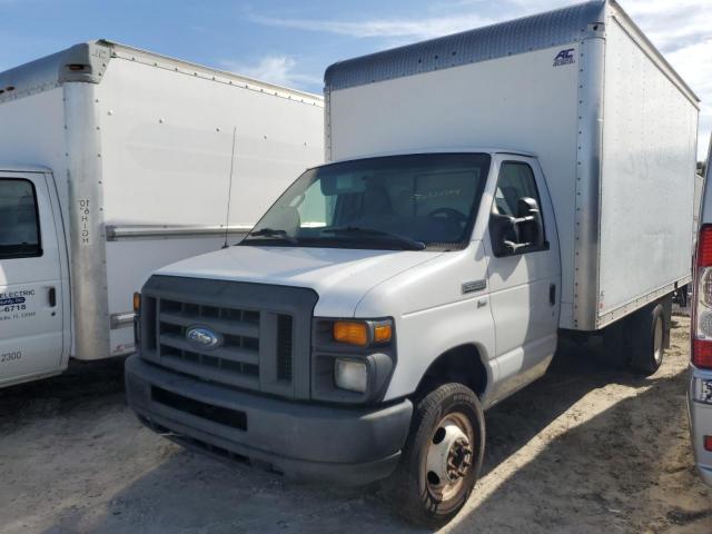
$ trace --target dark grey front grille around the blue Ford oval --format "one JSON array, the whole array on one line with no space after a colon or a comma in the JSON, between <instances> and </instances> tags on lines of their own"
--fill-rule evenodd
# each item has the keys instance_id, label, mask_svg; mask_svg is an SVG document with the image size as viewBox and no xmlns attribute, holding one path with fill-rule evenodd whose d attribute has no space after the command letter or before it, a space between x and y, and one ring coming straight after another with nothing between
<instances>
[{"instance_id":1,"label":"dark grey front grille around the blue Ford oval","mask_svg":"<svg viewBox=\"0 0 712 534\"><path fill-rule=\"evenodd\" d=\"M200 380L308 398L309 289L226 280L152 277L141 303L141 356ZM200 346L191 328L220 342Z\"/></svg>"}]
</instances>

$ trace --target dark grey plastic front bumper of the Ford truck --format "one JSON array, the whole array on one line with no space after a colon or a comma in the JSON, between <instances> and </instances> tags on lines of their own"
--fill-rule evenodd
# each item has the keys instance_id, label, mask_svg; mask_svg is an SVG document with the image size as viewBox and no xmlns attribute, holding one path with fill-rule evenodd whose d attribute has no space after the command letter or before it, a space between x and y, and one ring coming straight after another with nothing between
<instances>
[{"instance_id":1,"label":"dark grey plastic front bumper of the Ford truck","mask_svg":"<svg viewBox=\"0 0 712 534\"><path fill-rule=\"evenodd\" d=\"M178 375L138 355L126 362L129 406L187 446L247 458L300 482L367 484L388 476L413 405L345 408L266 397Z\"/></svg>"}]
</instances>

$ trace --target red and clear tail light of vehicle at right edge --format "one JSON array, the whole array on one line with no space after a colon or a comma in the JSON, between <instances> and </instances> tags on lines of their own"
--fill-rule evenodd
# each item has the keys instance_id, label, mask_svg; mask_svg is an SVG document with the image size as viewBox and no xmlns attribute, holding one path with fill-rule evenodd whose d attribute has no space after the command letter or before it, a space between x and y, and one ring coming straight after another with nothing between
<instances>
[{"instance_id":1,"label":"red and clear tail light of vehicle at right edge","mask_svg":"<svg viewBox=\"0 0 712 534\"><path fill-rule=\"evenodd\" d=\"M712 368L712 225L700 228L692 307L692 364Z\"/></svg>"}]
</instances>

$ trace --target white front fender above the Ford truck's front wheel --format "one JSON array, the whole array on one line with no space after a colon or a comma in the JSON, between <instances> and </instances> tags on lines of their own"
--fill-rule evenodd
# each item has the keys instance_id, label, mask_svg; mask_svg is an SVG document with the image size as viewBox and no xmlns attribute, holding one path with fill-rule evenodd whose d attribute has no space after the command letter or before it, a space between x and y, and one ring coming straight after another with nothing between
<instances>
[{"instance_id":1,"label":"white front fender above the Ford truck's front wheel","mask_svg":"<svg viewBox=\"0 0 712 534\"><path fill-rule=\"evenodd\" d=\"M443 353L472 344L487 369L487 388L497 380L493 359L494 320L487 295L487 256L482 241L375 286L356 308L356 317L394 317L397 364L386 399L415 392L425 372Z\"/></svg>"}]
</instances>

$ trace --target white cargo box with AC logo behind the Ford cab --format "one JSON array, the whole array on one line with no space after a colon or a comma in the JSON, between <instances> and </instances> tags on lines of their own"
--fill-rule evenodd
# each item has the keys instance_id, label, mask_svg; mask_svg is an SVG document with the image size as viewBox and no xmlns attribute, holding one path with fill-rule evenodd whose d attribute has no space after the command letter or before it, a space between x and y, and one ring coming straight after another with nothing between
<instances>
[{"instance_id":1,"label":"white cargo box with AC logo behind the Ford cab","mask_svg":"<svg viewBox=\"0 0 712 534\"><path fill-rule=\"evenodd\" d=\"M533 152L554 202L562 328L594 330L690 280L698 99L616 2L336 63L327 159Z\"/></svg>"}]
</instances>

